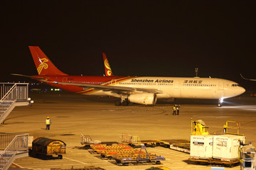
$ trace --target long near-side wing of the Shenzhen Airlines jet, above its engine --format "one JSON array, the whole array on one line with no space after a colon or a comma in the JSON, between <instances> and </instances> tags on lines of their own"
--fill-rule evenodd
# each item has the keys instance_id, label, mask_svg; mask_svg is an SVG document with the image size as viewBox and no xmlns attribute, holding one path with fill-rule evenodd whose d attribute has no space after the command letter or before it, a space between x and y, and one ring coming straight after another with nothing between
<instances>
[{"instance_id":1,"label":"long near-side wing of the Shenzhen Airlines jet, above its engine","mask_svg":"<svg viewBox=\"0 0 256 170\"><path fill-rule=\"evenodd\" d=\"M84 88L94 88L95 90L102 90L102 91L115 91L117 93L122 93L124 91L144 91L153 94L162 94L163 92L159 89L144 89L144 88L135 88L135 87L127 87L127 86L105 86L105 85L95 85L95 84L74 84L74 83L64 83L58 81L48 81L48 83L54 84L63 84L63 85L73 85L73 86L80 86Z\"/></svg>"}]
</instances>

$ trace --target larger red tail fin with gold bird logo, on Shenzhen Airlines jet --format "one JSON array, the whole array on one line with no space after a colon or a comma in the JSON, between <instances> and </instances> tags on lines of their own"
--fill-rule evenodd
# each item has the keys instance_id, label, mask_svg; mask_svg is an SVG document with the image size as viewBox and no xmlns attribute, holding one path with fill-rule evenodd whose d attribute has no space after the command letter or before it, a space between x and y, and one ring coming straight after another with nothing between
<instances>
[{"instance_id":1,"label":"larger red tail fin with gold bird logo, on Shenzhen Airlines jet","mask_svg":"<svg viewBox=\"0 0 256 170\"><path fill-rule=\"evenodd\" d=\"M38 75L68 75L63 72L60 72L55 65L50 62L48 57L43 53L43 51L38 46L29 46L31 50L31 55L36 64L36 69L38 71Z\"/></svg>"}]
</instances>

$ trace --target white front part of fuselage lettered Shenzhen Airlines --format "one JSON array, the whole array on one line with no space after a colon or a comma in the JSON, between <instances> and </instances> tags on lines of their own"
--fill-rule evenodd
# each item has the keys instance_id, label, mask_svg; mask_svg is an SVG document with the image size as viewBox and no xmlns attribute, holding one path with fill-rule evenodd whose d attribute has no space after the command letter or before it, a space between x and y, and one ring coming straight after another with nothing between
<instances>
[{"instance_id":1,"label":"white front part of fuselage lettered Shenzhen Airlines","mask_svg":"<svg viewBox=\"0 0 256 170\"><path fill-rule=\"evenodd\" d=\"M157 94L157 98L217 99L230 98L245 92L245 89L234 81L199 77L133 77L112 83L112 86L159 89L162 93Z\"/></svg>"}]
</instances>

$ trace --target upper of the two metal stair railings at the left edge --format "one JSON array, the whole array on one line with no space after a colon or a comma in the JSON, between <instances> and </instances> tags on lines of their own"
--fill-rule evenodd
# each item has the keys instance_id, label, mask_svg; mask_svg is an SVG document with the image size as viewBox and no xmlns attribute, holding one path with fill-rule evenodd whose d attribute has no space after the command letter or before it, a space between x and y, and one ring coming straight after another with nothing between
<instances>
[{"instance_id":1,"label":"upper of the two metal stair railings at the left edge","mask_svg":"<svg viewBox=\"0 0 256 170\"><path fill-rule=\"evenodd\" d=\"M28 99L28 83L0 83L0 120L16 101Z\"/></svg>"}]
</instances>

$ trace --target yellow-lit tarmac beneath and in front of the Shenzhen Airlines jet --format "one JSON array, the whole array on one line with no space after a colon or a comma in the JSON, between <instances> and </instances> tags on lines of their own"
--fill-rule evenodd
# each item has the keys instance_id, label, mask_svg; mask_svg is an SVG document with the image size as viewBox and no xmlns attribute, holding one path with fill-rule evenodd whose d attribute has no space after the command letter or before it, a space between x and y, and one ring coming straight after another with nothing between
<instances>
[{"instance_id":1,"label":"yellow-lit tarmac beneath and in front of the Shenzhen Airlines jet","mask_svg":"<svg viewBox=\"0 0 256 170\"><path fill-rule=\"evenodd\" d=\"M102 142L121 142L122 133L139 136L140 140L190 140L191 118L203 120L210 133L223 132L226 120L238 121L240 134L256 146L256 98L246 95L226 99L221 108L213 100L177 100L176 103L181 104L180 115L172 115L173 103L160 100L156 106L114 106L113 98L67 92L31 93L30 97L33 106L14 108L4 125L0 125L1 132L63 140L67 144L67 154L63 159L16 159L14 165L24 169L78 169L84 166L99 166L106 170L144 170L151 166L166 166L173 170L211 169L212 165L190 164L189 154L164 147L146 148L148 152L166 158L161 165L134 166L117 166L77 148L82 147L81 134ZM50 130L46 130L45 125L48 116L52 121ZM240 166L225 169L240 169Z\"/></svg>"}]
</instances>

